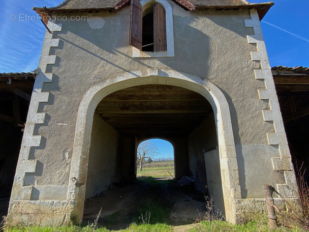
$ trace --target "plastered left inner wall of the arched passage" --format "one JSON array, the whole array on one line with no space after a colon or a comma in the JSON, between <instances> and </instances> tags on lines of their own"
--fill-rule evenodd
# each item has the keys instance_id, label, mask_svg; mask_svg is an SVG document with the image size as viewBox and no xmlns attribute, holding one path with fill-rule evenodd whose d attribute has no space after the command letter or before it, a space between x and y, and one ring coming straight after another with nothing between
<instances>
[{"instance_id":1,"label":"plastered left inner wall of the arched passage","mask_svg":"<svg viewBox=\"0 0 309 232\"><path fill-rule=\"evenodd\" d=\"M85 198L106 190L121 178L120 135L95 113L91 133Z\"/></svg>"}]
</instances>

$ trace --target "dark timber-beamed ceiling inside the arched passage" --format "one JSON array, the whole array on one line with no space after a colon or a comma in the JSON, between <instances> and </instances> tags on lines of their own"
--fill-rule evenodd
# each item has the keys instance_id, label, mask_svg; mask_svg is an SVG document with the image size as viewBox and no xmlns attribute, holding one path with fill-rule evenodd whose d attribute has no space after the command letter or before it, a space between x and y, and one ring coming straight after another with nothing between
<instances>
[{"instance_id":1,"label":"dark timber-beamed ceiling inside the arched passage","mask_svg":"<svg viewBox=\"0 0 309 232\"><path fill-rule=\"evenodd\" d=\"M200 94L170 85L141 85L106 96L97 106L109 125L125 136L188 135L212 112Z\"/></svg>"}]
</instances>

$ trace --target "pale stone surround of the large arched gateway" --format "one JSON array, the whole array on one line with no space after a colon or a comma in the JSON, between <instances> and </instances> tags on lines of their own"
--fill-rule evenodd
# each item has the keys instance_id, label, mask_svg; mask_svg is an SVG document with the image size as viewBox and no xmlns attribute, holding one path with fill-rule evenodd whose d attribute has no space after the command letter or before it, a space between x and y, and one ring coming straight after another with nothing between
<instances>
[{"instance_id":1,"label":"pale stone surround of the large arched gateway","mask_svg":"<svg viewBox=\"0 0 309 232\"><path fill-rule=\"evenodd\" d=\"M107 95L125 88L145 84L166 84L182 87L205 97L212 106L217 128L220 169L226 220L235 222L235 198L241 198L236 150L228 102L217 85L201 77L173 70L144 69L120 73L92 86L82 98L76 122L68 200L74 205L71 220L79 223L87 179L92 119L99 102Z\"/></svg>"}]
</instances>

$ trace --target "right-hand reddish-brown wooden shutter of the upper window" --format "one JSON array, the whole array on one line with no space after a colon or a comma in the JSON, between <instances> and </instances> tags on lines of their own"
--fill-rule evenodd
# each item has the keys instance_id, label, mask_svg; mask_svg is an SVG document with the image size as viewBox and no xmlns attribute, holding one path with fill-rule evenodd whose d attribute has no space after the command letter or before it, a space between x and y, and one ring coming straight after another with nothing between
<instances>
[{"instance_id":1,"label":"right-hand reddish-brown wooden shutter of the upper window","mask_svg":"<svg viewBox=\"0 0 309 232\"><path fill-rule=\"evenodd\" d=\"M165 9L159 3L153 5L153 51L166 51Z\"/></svg>"}]
</instances>

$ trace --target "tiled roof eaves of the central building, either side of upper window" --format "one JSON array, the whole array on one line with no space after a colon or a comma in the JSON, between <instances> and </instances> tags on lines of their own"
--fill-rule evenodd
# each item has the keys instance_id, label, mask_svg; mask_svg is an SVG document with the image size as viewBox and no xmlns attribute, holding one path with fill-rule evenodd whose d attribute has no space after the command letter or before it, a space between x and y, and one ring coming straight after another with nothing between
<instances>
[{"instance_id":1,"label":"tiled roof eaves of the central building, either side of upper window","mask_svg":"<svg viewBox=\"0 0 309 232\"><path fill-rule=\"evenodd\" d=\"M196 9L257 9L260 20L273 6L273 2L253 4L245 0L172 0L186 10ZM88 11L117 11L130 4L130 0L66 0L56 7L37 8L38 14L56 12L88 12Z\"/></svg>"}]
</instances>

